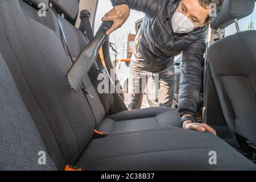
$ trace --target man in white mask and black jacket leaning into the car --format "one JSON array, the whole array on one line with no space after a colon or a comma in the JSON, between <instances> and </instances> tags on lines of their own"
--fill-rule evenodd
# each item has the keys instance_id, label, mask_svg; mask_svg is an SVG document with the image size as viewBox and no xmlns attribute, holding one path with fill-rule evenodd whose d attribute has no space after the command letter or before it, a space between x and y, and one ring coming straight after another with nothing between
<instances>
[{"instance_id":1,"label":"man in white mask and black jacket leaning into the car","mask_svg":"<svg viewBox=\"0 0 256 182\"><path fill-rule=\"evenodd\" d=\"M113 0L114 8L105 14L104 21L113 21L109 35L126 22L130 9L145 14L139 30L130 75L151 73L159 75L159 106L171 107L174 95L174 56L183 52L183 70L180 78L179 112L184 129L216 131L206 124L195 123L195 114L201 89L201 64L206 49L210 13L224 0ZM112 2L113 2L112 1ZM139 81L130 78L133 87ZM142 91L144 86L142 86ZM130 109L139 109L142 93L130 94Z\"/></svg>"}]
</instances>

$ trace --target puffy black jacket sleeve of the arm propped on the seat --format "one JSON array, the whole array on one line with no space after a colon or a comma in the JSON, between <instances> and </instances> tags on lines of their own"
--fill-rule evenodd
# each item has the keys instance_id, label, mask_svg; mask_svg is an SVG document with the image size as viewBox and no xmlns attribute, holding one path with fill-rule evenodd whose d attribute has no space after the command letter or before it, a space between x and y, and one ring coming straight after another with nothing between
<instances>
[{"instance_id":1,"label":"puffy black jacket sleeve of the arm propped on the seat","mask_svg":"<svg viewBox=\"0 0 256 182\"><path fill-rule=\"evenodd\" d=\"M179 90L179 112L181 115L196 115L201 90L201 65L205 49L205 38L202 38L183 50Z\"/></svg>"}]
</instances>

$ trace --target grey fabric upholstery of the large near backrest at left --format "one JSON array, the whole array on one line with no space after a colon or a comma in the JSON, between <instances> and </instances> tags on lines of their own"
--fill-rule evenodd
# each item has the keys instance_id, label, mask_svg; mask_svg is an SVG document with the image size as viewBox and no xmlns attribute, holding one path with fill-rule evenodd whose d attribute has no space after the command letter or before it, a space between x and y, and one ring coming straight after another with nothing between
<instances>
[{"instance_id":1,"label":"grey fabric upholstery of the large near backrest at left","mask_svg":"<svg viewBox=\"0 0 256 182\"><path fill-rule=\"evenodd\" d=\"M40 18L38 11L23 1L0 3L1 26L6 30L1 36L9 39L26 84L55 135L64 163L73 164L92 139L96 121L82 91L71 92L65 81L70 64L54 31L55 15L49 9L47 16ZM19 27L19 31L13 27Z\"/></svg>"}]
</instances>

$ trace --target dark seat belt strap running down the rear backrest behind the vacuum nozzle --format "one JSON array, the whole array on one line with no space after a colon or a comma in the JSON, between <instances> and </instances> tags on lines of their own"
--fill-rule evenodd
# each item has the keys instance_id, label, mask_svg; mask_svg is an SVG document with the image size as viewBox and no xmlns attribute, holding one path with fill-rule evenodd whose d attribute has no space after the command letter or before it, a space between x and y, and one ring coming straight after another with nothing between
<instances>
[{"instance_id":1,"label":"dark seat belt strap running down the rear backrest behind the vacuum nozzle","mask_svg":"<svg viewBox=\"0 0 256 182\"><path fill-rule=\"evenodd\" d=\"M64 29L63 29L63 26L62 26L62 23L61 23L61 20L59 18L59 15L57 14L57 12L55 11L55 9L52 9L53 13L55 13L55 16L57 18L57 22L59 24L59 27L60 27L60 31L61 31L61 35L63 36L63 39L64 39L64 44L65 44L65 47L67 48L67 51L68 51L68 54L69 54L69 57L70 59L72 60L72 63L74 63L75 61L73 60L73 57L71 55L71 52L69 51L69 48L68 48L68 42L67 42L67 38L65 36L65 32L64 32ZM96 122L96 125L97 125L97 120L96 120L96 117L95 117L95 114L94 114L94 110L92 109L92 106L90 104L90 99L88 99L87 96L90 96L92 98L94 98L86 89L85 89L85 85L84 85L84 82L82 82L81 84L81 89L82 89L82 92L84 93L84 96L86 98L86 101L88 102L89 106L90 106L90 110L92 110L92 113L93 113L93 118Z\"/></svg>"}]
</instances>

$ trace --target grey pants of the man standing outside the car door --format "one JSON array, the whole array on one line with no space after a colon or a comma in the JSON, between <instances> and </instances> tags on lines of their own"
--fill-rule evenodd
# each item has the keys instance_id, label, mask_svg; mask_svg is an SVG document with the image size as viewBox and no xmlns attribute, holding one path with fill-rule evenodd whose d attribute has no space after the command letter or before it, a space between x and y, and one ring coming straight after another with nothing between
<instances>
[{"instance_id":1,"label":"grey pants of the man standing outside the car door","mask_svg":"<svg viewBox=\"0 0 256 182\"><path fill-rule=\"evenodd\" d=\"M145 93L148 80L154 79L155 90L149 89L150 92L156 92L159 107L172 107L174 100L174 63L160 72L145 71L144 67L138 60L132 59L129 73L129 110L141 109L143 94ZM148 87L147 87L148 88ZM149 91L147 89L147 92ZM151 94L152 95L152 94Z\"/></svg>"}]
</instances>

